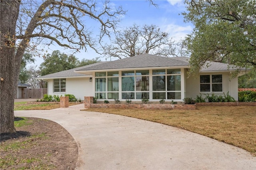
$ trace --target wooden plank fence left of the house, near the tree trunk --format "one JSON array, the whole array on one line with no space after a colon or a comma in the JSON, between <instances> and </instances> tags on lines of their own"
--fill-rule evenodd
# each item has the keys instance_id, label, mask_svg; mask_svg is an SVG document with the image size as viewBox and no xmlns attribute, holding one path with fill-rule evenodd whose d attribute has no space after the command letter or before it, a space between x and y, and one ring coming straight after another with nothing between
<instances>
[{"instance_id":1,"label":"wooden plank fence left of the house, near the tree trunk","mask_svg":"<svg viewBox=\"0 0 256 170\"><path fill-rule=\"evenodd\" d=\"M47 94L47 88L22 88L22 99L42 99L44 98L45 94Z\"/></svg>"}]
</instances>

